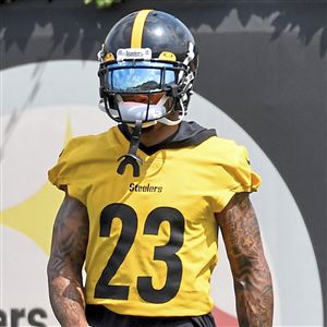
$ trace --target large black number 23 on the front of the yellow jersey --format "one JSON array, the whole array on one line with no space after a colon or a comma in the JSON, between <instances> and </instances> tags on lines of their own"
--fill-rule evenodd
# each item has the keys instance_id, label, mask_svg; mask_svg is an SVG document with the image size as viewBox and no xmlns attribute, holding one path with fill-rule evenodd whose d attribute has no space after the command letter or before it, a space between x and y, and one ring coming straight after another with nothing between
<instances>
[{"instance_id":1,"label":"large black number 23 on the front of the yellow jersey","mask_svg":"<svg viewBox=\"0 0 327 327\"><path fill-rule=\"evenodd\" d=\"M113 253L96 284L95 298L128 300L130 287L110 284L110 281L132 247L137 230L137 216L129 205L108 205L100 216L100 237L109 237L113 218L121 220L122 229ZM152 276L137 277L140 296L150 303L165 303L173 299L180 289L182 279L182 262L177 252L183 245L185 225L183 215L171 207L156 208L148 215L143 233L157 235L164 221L168 221L170 225L170 239L167 244L155 246L154 259L167 264L165 286L161 289L155 289Z\"/></svg>"}]
</instances>

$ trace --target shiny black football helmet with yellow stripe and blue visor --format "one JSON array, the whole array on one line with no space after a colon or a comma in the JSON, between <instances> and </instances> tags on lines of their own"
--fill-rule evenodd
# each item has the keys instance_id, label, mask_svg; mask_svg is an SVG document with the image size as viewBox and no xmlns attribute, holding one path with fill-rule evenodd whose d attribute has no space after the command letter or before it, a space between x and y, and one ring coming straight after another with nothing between
<instances>
[{"instance_id":1,"label":"shiny black football helmet with yellow stripe and blue visor","mask_svg":"<svg viewBox=\"0 0 327 327\"><path fill-rule=\"evenodd\" d=\"M191 32L177 17L156 10L124 16L109 32L98 59L99 107L113 120L132 126L136 121L175 124L186 113L198 55ZM147 97L146 106L124 100L140 94ZM154 94L162 94L159 104L152 104ZM173 110L180 113L177 122L166 118Z\"/></svg>"}]
</instances>

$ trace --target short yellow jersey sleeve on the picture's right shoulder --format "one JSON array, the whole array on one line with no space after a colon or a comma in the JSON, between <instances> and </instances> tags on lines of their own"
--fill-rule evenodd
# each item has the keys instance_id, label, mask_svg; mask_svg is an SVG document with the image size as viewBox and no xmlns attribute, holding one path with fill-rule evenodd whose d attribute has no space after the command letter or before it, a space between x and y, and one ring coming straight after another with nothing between
<instances>
[{"instance_id":1,"label":"short yellow jersey sleeve on the picture's right shoulder","mask_svg":"<svg viewBox=\"0 0 327 327\"><path fill-rule=\"evenodd\" d=\"M261 185L261 177L250 165L247 149L244 146L230 143L226 156L219 162L219 185L214 199L215 211L221 211L235 193L255 192Z\"/></svg>"}]
</instances>

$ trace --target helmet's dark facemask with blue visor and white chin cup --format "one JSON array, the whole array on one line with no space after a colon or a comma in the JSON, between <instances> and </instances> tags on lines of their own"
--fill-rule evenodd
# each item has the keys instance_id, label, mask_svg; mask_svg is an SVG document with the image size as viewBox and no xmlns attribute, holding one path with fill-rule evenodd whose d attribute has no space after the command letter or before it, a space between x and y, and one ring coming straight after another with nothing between
<instances>
[{"instance_id":1,"label":"helmet's dark facemask with blue visor and white chin cup","mask_svg":"<svg viewBox=\"0 0 327 327\"><path fill-rule=\"evenodd\" d=\"M194 74L183 63L123 60L102 63L99 77L100 109L117 122L133 126L141 120L145 128L158 121L180 123L186 113L184 104L189 102ZM137 101L140 96L143 101ZM178 121L167 118L174 110L180 113Z\"/></svg>"}]
</instances>

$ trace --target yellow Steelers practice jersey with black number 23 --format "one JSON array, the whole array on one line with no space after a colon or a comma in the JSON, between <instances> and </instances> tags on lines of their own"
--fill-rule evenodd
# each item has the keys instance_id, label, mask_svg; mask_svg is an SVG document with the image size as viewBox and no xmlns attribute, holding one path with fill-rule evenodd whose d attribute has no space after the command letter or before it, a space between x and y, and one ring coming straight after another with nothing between
<instances>
[{"instance_id":1,"label":"yellow Steelers practice jersey with black number 23","mask_svg":"<svg viewBox=\"0 0 327 327\"><path fill-rule=\"evenodd\" d=\"M66 145L49 179L58 187L66 185L88 209L88 304L138 316L195 316L213 310L214 214L234 193L255 191L259 177L244 147L210 134L198 140L191 135L148 153L138 149L137 178L130 166L117 173L118 158L130 146L118 126Z\"/></svg>"}]
</instances>

